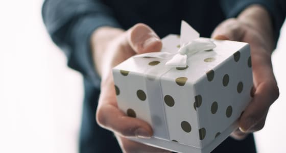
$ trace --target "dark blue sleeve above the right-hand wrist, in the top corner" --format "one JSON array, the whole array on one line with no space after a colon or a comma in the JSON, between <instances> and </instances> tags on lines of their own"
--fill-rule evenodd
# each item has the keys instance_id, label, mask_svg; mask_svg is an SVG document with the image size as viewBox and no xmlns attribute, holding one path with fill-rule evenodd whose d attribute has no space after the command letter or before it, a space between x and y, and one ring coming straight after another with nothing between
<instances>
[{"instance_id":1,"label":"dark blue sleeve above the right-hand wrist, in the top corner","mask_svg":"<svg viewBox=\"0 0 286 153\"><path fill-rule=\"evenodd\" d=\"M258 4L263 6L271 15L274 38L277 42L279 37L280 28L282 27L284 21L283 10L279 4L280 0L221 0L221 7L227 18L236 17L245 8L250 5ZM284 0L282 0L284 1Z\"/></svg>"}]
</instances>

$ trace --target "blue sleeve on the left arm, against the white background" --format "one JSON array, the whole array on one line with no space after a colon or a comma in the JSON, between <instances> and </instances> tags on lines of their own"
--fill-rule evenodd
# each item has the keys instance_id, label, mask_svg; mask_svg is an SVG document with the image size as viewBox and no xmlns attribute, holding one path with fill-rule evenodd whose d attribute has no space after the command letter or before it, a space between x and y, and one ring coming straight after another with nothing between
<instances>
[{"instance_id":1,"label":"blue sleeve on the left arm, against the white background","mask_svg":"<svg viewBox=\"0 0 286 153\"><path fill-rule=\"evenodd\" d=\"M94 70L90 35L103 25L120 27L112 10L99 0L46 0L42 17L52 40L64 51L67 65L99 88L100 77Z\"/></svg>"}]
</instances>

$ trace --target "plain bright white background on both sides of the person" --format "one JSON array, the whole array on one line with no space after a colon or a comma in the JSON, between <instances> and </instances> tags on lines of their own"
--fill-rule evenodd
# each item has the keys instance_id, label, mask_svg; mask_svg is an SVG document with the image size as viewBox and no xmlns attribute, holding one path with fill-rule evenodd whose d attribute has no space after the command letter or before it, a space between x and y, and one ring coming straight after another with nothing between
<instances>
[{"instance_id":1,"label":"plain bright white background on both sides of the person","mask_svg":"<svg viewBox=\"0 0 286 153\"><path fill-rule=\"evenodd\" d=\"M41 4L0 2L0 152L78 152L82 77L47 35ZM280 97L255 133L260 153L286 150L285 34L273 54Z\"/></svg>"}]
</instances>

